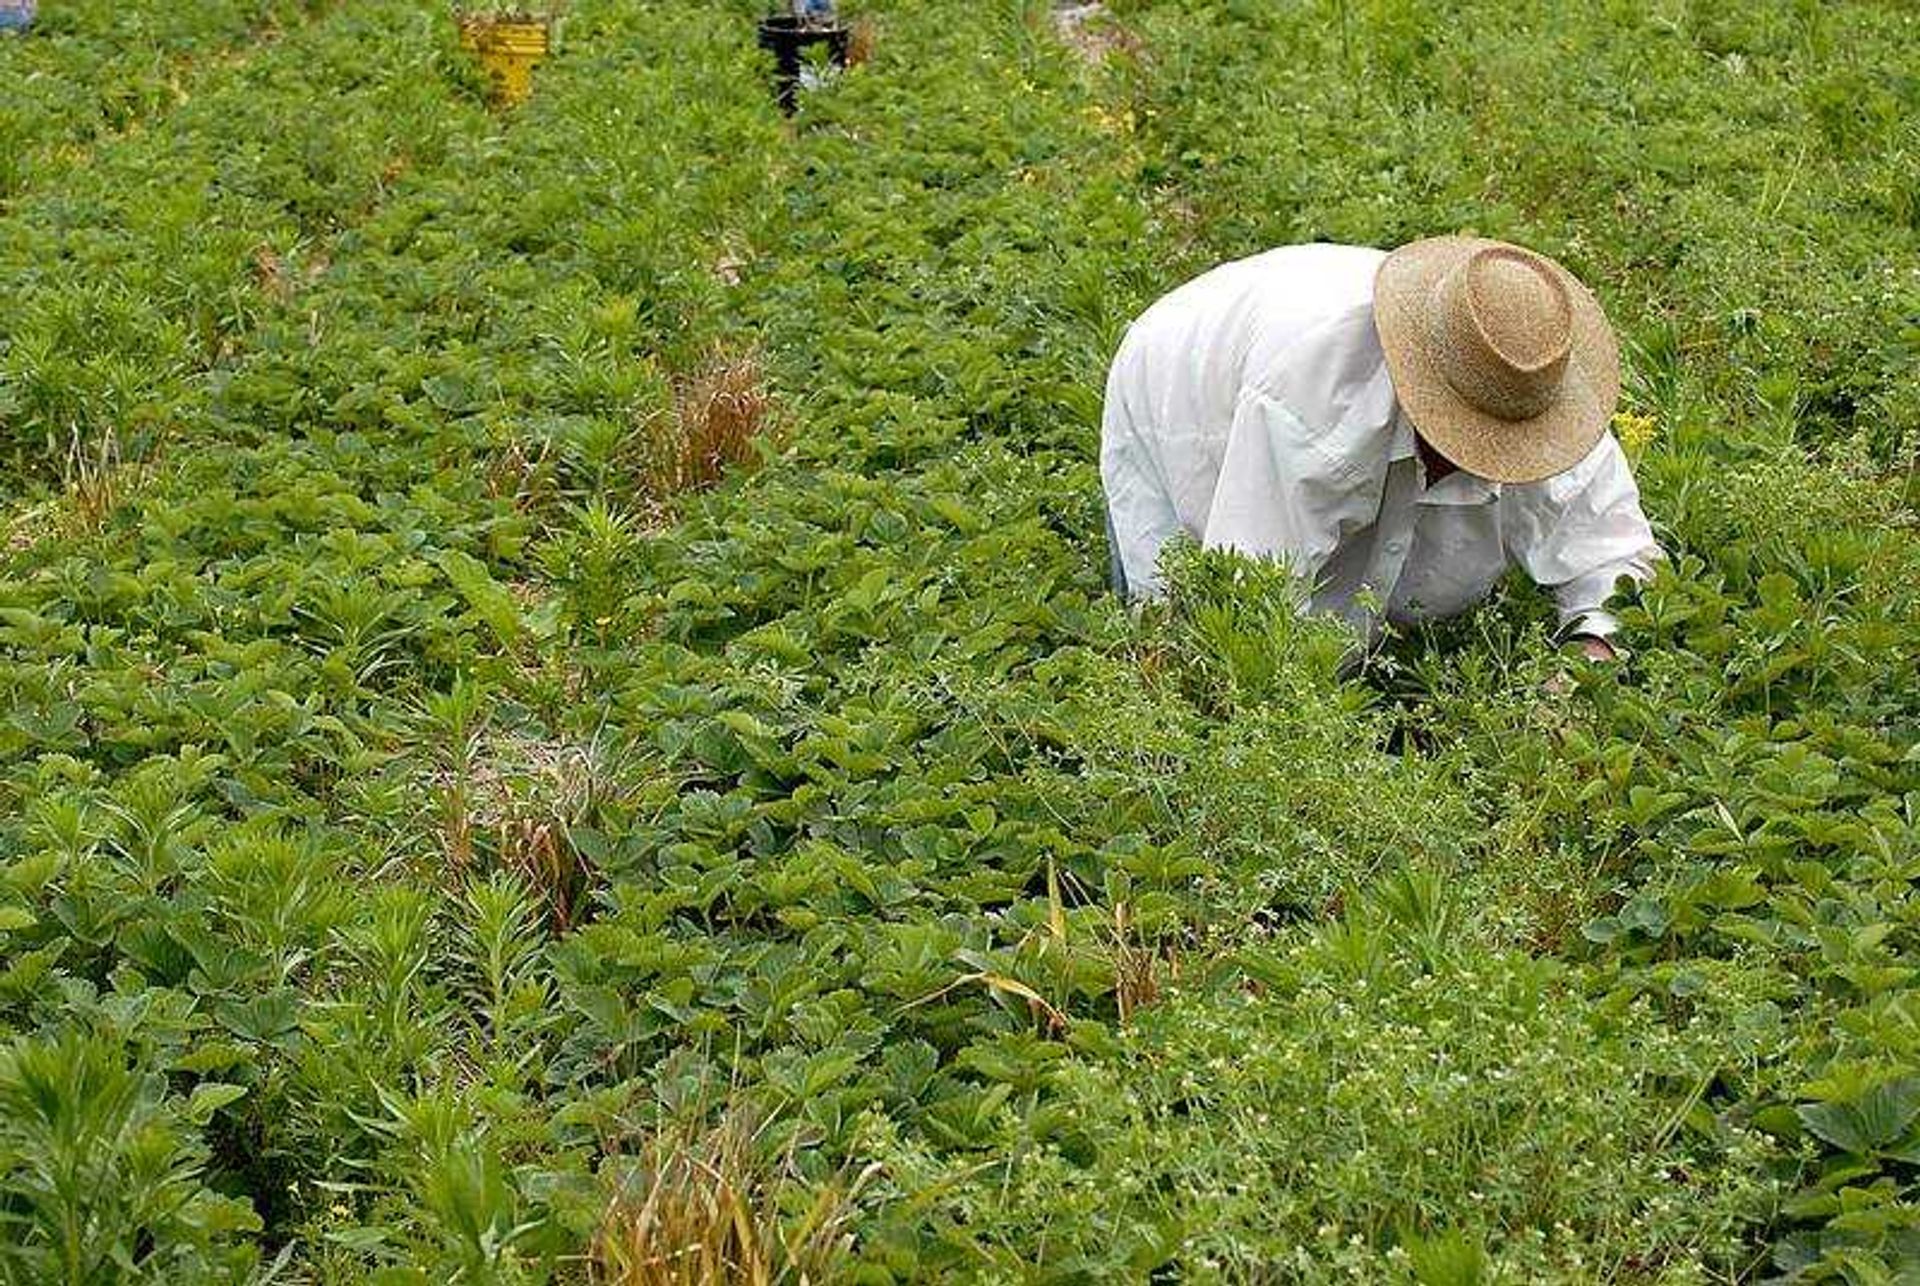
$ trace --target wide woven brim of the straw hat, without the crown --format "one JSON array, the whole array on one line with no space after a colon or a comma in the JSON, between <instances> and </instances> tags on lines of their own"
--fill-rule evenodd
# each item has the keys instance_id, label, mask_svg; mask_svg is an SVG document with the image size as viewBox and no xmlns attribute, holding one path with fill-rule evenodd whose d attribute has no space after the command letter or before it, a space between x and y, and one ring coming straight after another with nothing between
<instances>
[{"instance_id":1,"label":"wide woven brim of the straw hat, without the crown","mask_svg":"<svg viewBox=\"0 0 1920 1286\"><path fill-rule=\"evenodd\" d=\"M1373 282L1373 322L1386 349L1394 395L1413 428L1440 455L1492 482L1540 482L1578 464L1613 418L1620 399L1620 345L1599 299L1551 259L1572 305L1567 376L1559 397L1526 420L1488 415L1453 392L1432 353L1434 288L1478 250L1476 236L1434 236L1386 255Z\"/></svg>"}]
</instances>

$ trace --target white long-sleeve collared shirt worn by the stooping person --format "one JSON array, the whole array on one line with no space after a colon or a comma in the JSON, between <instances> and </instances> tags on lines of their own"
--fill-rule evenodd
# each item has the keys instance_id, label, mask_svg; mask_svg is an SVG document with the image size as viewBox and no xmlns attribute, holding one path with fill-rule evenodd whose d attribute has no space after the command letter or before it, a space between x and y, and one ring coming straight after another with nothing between
<instances>
[{"instance_id":1,"label":"white long-sleeve collared shirt worn by the stooping person","mask_svg":"<svg viewBox=\"0 0 1920 1286\"><path fill-rule=\"evenodd\" d=\"M1154 303L1106 386L1100 476L1133 595L1162 591L1179 532L1284 559L1311 607L1363 637L1452 616L1519 564L1553 591L1567 633L1605 635L1622 576L1659 545L1607 434L1544 482L1453 472L1427 484L1373 326L1384 251L1288 246L1221 265Z\"/></svg>"}]
</instances>

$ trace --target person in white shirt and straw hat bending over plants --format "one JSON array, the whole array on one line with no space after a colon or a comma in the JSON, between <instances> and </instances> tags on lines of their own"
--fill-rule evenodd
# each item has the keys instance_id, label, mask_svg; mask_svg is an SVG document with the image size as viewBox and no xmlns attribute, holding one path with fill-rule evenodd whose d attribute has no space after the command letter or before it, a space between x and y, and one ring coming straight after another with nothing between
<instances>
[{"instance_id":1,"label":"person in white shirt and straw hat bending over plants","mask_svg":"<svg viewBox=\"0 0 1920 1286\"><path fill-rule=\"evenodd\" d=\"M1100 430L1114 582L1160 549L1286 560L1365 639L1452 616L1521 566L1563 637L1611 658L1605 601L1659 547L1607 432L1620 357L1567 269L1465 236L1392 253L1288 246L1154 303L1114 359Z\"/></svg>"}]
</instances>

